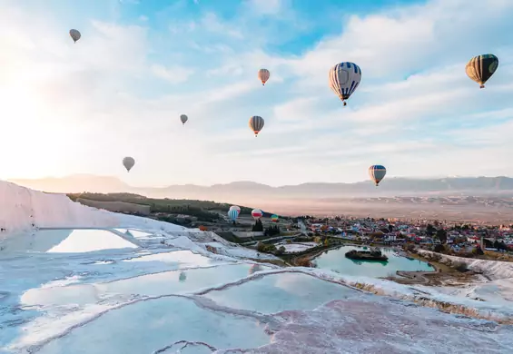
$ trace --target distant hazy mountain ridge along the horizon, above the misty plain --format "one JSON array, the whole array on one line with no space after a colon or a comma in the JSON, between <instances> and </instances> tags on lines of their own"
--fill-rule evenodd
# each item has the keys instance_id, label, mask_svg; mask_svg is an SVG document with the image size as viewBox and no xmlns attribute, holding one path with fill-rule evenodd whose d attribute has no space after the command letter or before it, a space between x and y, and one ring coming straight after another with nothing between
<instances>
[{"instance_id":1,"label":"distant hazy mountain ridge along the horizon, above the misty plain","mask_svg":"<svg viewBox=\"0 0 513 354\"><path fill-rule=\"evenodd\" d=\"M372 182L302 183L271 187L256 182L231 182L199 186L171 185L163 188L132 187L115 177L72 175L39 180L10 180L45 192L134 192L159 198L231 200L236 196L249 198L350 198L377 196L419 196L448 193L468 195L513 194L513 179L508 177L453 177L439 179L389 178L375 187Z\"/></svg>"}]
</instances>

